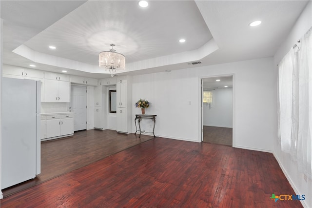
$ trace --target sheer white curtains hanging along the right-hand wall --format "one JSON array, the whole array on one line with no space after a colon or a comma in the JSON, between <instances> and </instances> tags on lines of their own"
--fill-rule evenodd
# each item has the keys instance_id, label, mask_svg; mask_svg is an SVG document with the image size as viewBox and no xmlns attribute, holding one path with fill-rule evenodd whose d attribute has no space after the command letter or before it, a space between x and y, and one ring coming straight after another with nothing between
<instances>
[{"instance_id":1,"label":"sheer white curtains hanging along the right-hand wall","mask_svg":"<svg viewBox=\"0 0 312 208\"><path fill-rule=\"evenodd\" d=\"M278 139L281 149L312 178L312 39L310 29L300 47L278 64Z\"/></svg>"}]
</instances>

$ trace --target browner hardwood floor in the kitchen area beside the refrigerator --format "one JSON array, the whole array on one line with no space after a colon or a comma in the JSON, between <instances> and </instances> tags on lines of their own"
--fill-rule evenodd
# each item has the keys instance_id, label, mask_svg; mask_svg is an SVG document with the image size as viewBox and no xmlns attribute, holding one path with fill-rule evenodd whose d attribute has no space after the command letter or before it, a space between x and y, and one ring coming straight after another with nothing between
<instances>
[{"instance_id":1,"label":"browner hardwood floor in the kitchen area beside the refrigerator","mask_svg":"<svg viewBox=\"0 0 312 208\"><path fill-rule=\"evenodd\" d=\"M84 130L74 136L41 142L41 173L33 180L2 190L7 197L121 150L153 139L153 136L122 134L114 130Z\"/></svg>"}]
</instances>

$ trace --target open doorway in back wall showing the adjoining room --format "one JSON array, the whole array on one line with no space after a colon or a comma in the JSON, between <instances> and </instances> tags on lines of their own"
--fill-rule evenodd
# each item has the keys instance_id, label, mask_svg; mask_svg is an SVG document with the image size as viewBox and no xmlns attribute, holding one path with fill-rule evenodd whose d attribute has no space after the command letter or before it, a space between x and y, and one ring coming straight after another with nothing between
<instances>
[{"instance_id":1,"label":"open doorway in back wall showing the adjoining room","mask_svg":"<svg viewBox=\"0 0 312 208\"><path fill-rule=\"evenodd\" d=\"M233 146L233 76L202 79L202 142Z\"/></svg>"}]
</instances>

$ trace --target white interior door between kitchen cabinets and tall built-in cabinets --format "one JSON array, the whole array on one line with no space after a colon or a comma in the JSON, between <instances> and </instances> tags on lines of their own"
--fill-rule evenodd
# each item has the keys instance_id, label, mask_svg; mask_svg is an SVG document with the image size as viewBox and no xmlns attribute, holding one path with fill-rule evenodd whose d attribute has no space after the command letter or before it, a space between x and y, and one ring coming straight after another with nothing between
<instances>
[{"instance_id":1,"label":"white interior door between kitchen cabinets and tall built-in cabinets","mask_svg":"<svg viewBox=\"0 0 312 208\"><path fill-rule=\"evenodd\" d=\"M69 111L75 112L74 131L87 129L87 87L71 85Z\"/></svg>"}]
</instances>

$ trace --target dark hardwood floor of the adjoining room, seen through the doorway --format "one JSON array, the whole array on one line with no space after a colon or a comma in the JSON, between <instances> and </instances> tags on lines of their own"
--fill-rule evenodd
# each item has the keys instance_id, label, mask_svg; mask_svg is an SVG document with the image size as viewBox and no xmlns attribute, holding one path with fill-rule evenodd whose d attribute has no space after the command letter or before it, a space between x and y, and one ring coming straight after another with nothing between
<instances>
[{"instance_id":1,"label":"dark hardwood floor of the adjoining room, seen through the doorway","mask_svg":"<svg viewBox=\"0 0 312 208\"><path fill-rule=\"evenodd\" d=\"M203 142L232 146L233 128L204 125Z\"/></svg>"}]
</instances>

